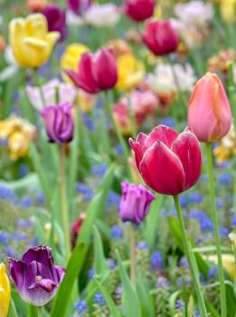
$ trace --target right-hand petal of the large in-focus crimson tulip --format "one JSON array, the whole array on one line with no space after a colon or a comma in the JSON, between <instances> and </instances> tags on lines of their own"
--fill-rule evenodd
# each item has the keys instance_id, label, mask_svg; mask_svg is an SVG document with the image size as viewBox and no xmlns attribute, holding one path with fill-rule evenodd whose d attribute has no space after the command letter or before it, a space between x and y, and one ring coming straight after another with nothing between
<instances>
[{"instance_id":1,"label":"right-hand petal of the large in-focus crimson tulip","mask_svg":"<svg viewBox=\"0 0 236 317\"><path fill-rule=\"evenodd\" d=\"M181 160L184 173L184 189L193 187L201 174L202 156L198 139L190 130L184 130L173 142L171 148Z\"/></svg>"}]
</instances>

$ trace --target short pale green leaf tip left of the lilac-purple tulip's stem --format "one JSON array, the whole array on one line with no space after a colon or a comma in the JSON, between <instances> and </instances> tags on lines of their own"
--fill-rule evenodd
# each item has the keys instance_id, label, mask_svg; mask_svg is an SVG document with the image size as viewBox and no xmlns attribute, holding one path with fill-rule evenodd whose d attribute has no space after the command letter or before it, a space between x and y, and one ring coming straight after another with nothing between
<instances>
[{"instance_id":1,"label":"short pale green leaf tip left of the lilac-purple tulip's stem","mask_svg":"<svg viewBox=\"0 0 236 317\"><path fill-rule=\"evenodd\" d=\"M101 237L99 235L99 230L96 226L93 226L93 237L95 273L96 275L105 274L109 271L109 267L106 263Z\"/></svg>"}]
</instances>

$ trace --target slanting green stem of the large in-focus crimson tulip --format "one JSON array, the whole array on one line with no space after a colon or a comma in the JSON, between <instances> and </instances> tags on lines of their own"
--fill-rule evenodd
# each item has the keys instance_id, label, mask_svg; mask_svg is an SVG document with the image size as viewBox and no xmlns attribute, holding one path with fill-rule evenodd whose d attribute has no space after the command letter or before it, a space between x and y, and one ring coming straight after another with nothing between
<instances>
[{"instance_id":1,"label":"slanting green stem of the large in-focus crimson tulip","mask_svg":"<svg viewBox=\"0 0 236 317\"><path fill-rule=\"evenodd\" d=\"M199 276L198 276L198 272L196 269L196 265L194 264L194 256L192 255L192 250L191 250L191 247L190 247L190 245L188 243L188 239L187 239L187 234L186 234L186 230L185 230L185 226L184 226L184 218L183 218L180 203L179 203L179 197L178 197L178 195L175 195L173 197L174 197L174 201L175 201L175 209L177 211L180 231L181 231L181 235L182 235L182 239L183 239L184 252L185 252L185 255L186 255L187 260L188 260L189 269L190 269L191 276L192 276L193 283L194 283L194 289L195 289L195 292L197 294L197 299L198 299L198 303L200 306L200 314L201 314L201 317L207 317L207 311L206 311L205 303L203 300L203 293L201 291Z\"/></svg>"}]
</instances>

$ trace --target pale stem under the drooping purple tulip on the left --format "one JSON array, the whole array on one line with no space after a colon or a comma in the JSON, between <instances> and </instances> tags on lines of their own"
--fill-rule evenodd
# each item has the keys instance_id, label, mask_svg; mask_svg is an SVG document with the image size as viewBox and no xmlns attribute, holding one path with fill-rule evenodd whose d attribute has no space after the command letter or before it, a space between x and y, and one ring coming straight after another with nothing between
<instances>
[{"instance_id":1,"label":"pale stem under the drooping purple tulip on the left","mask_svg":"<svg viewBox=\"0 0 236 317\"><path fill-rule=\"evenodd\" d=\"M65 178L65 148L60 146L60 183L61 183L61 219L65 238L66 260L71 254L71 235L69 230L69 215L66 195L66 178Z\"/></svg>"}]
</instances>

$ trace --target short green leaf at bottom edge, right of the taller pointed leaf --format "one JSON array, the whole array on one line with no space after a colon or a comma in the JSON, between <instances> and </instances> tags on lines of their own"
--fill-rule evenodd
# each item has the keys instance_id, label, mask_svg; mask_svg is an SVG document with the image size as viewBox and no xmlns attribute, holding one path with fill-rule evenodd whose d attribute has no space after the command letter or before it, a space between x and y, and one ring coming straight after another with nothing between
<instances>
[{"instance_id":1,"label":"short green leaf at bottom edge, right of the taller pointed leaf","mask_svg":"<svg viewBox=\"0 0 236 317\"><path fill-rule=\"evenodd\" d=\"M146 280L140 274L137 277L137 294L141 304L142 316L155 317L154 299L149 293Z\"/></svg>"}]
</instances>

